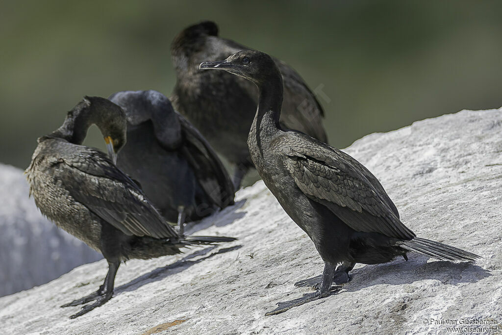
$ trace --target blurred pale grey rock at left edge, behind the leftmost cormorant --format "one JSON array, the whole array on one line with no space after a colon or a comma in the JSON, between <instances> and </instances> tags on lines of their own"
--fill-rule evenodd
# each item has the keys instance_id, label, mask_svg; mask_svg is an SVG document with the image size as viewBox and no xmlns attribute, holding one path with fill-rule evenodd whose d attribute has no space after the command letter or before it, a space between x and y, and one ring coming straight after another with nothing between
<instances>
[{"instance_id":1,"label":"blurred pale grey rock at left edge, behind the leftmost cormorant","mask_svg":"<svg viewBox=\"0 0 502 335\"><path fill-rule=\"evenodd\" d=\"M101 258L40 213L21 169L0 164L0 296Z\"/></svg>"}]
</instances>

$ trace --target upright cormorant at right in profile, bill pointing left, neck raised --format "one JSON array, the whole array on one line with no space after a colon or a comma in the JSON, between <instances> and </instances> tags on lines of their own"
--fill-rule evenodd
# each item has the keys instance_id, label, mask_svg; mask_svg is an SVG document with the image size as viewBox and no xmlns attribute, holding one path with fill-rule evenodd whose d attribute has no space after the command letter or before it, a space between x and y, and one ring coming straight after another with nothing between
<instances>
[{"instance_id":1,"label":"upright cormorant at right in profile, bill pointing left, neck raised","mask_svg":"<svg viewBox=\"0 0 502 335\"><path fill-rule=\"evenodd\" d=\"M449 261L479 257L417 238L400 221L382 185L359 162L308 135L283 130L279 124L283 80L269 55L240 51L224 61L203 62L200 68L225 70L258 86L260 102L247 140L251 157L265 185L324 261L321 276L296 283L317 288L315 293L280 302L267 315L328 296L333 282L350 280L348 272L355 263L407 259L408 252Z\"/></svg>"}]
</instances>

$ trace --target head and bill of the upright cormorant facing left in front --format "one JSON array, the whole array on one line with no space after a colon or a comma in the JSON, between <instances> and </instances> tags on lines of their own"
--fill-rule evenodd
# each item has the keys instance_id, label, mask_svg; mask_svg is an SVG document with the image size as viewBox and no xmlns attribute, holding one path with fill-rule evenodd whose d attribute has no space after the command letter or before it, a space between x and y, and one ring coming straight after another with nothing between
<instances>
[{"instance_id":1,"label":"head and bill of the upright cormorant facing left in front","mask_svg":"<svg viewBox=\"0 0 502 335\"><path fill-rule=\"evenodd\" d=\"M223 61L202 62L199 68L225 70L253 81L258 86L281 78L281 72L272 57L255 50L236 52Z\"/></svg>"}]
</instances>

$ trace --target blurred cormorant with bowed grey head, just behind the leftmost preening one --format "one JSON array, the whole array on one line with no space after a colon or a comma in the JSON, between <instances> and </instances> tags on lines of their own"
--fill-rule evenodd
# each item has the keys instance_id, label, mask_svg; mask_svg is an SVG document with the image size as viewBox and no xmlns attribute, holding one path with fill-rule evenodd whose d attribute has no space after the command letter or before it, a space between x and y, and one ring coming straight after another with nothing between
<instances>
[{"instance_id":1,"label":"blurred cormorant with bowed grey head, just behind the leftmost preening one","mask_svg":"<svg viewBox=\"0 0 502 335\"><path fill-rule=\"evenodd\" d=\"M127 144L117 166L139 181L170 222L198 220L233 204L233 185L209 143L162 93L122 91L109 99L127 118Z\"/></svg>"}]
</instances>

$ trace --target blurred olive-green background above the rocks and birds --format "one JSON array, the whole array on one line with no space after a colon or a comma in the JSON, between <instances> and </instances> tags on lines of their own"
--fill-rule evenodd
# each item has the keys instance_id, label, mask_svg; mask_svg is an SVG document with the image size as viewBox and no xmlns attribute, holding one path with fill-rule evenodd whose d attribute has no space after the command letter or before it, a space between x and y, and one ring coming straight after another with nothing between
<instances>
[{"instance_id":1,"label":"blurred olive-green background above the rocks and birds","mask_svg":"<svg viewBox=\"0 0 502 335\"><path fill-rule=\"evenodd\" d=\"M458 110L502 105L500 1L2 1L0 162L25 168L36 138L83 95L175 83L170 43L209 19L220 35L322 85L330 144ZM104 148L97 129L86 144Z\"/></svg>"}]
</instances>

